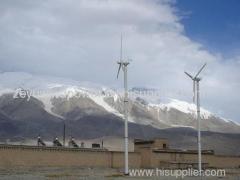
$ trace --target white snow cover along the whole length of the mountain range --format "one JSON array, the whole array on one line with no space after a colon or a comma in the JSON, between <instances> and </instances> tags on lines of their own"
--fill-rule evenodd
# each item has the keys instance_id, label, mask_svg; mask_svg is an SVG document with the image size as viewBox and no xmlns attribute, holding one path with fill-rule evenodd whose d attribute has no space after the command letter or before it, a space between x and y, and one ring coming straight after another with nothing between
<instances>
[{"instance_id":1,"label":"white snow cover along the whole length of the mountain range","mask_svg":"<svg viewBox=\"0 0 240 180\"><path fill-rule=\"evenodd\" d=\"M77 82L64 78L53 78L47 76L30 75L23 72L0 73L0 95L14 92L17 88L29 90L31 95L43 102L45 110L54 116L60 116L52 111L52 98L62 97L70 100L79 96L91 99L96 105L107 112L123 118L123 99L117 91L90 82ZM133 95L131 93L131 95ZM177 99L159 101L155 97L141 97L139 94L130 95L129 121L135 123L151 124L155 127L190 127L195 128L196 107L192 103ZM144 99L144 102L136 100L136 97ZM109 102L107 99L112 99ZM158 97L159 98L159 97ZM161 97L162 98L162 97ZM138 104L138 105L137 105ZM177 110L177 111L176 111ZM203 127L206 130L218 129L222 131L240 126L231 120L219 118L208 110L201 108L201 118L204 121ZM217 124L217 125L216 125ZM237 130L235 130L237 131Z\"/></svg>"}]
</instances>

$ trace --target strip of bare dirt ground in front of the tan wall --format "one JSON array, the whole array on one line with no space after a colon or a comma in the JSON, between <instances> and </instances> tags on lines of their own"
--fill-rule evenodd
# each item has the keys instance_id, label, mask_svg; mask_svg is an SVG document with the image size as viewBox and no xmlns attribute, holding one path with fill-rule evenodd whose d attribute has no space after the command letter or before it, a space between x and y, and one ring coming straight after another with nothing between
<instances>
[{"instance_id":1,"label":"strip of bare dirt ground in front of the tan wall","mask_svg":"<svg viewBox=\"0 0 240 180\"><path fill-rule=\"evenodd\" d=\"M240 180L240 169L227 170L226 177L204 177L203 180L231 179ZM124 176L120 169L110 168L81 168L81 167L35 167L35 168L15 168L0 169L0 180L143 180L161 179L172 180L181 179L176 177L132 177ZM201 179L198 177L186 177L186 180Z\"/></svg>"}]
</instances>

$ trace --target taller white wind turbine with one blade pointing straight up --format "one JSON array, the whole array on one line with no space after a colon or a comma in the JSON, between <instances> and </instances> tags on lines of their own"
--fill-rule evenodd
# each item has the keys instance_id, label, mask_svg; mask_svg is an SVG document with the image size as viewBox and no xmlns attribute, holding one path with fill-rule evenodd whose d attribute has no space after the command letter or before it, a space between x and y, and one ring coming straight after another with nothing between
<instances>
[{"instance_id":1,"label":"taller white wind turbine with one blade pointing straight up","mask_svg":"<svg viewBox=\"0 0 240 180\"><path fill-rule=\"evenodd\" d=\"M120 70L123 70L124 74L124 156L125 156L125 167L124 167L124 174L128 175L128 84L127 84L127 66L129 65L128 61L124 61L122 58L122 35L121 35L121 49L120 49L120 60L117 62L119 65L117 78L119 76Z\"/></svg>"}]
</instances>

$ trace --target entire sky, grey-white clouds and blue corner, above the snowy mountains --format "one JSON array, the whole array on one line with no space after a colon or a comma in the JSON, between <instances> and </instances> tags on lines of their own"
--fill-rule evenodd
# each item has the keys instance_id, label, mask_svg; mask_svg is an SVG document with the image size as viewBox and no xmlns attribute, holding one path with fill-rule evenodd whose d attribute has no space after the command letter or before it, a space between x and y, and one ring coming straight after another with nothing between
<instances>
[{"instance_id":1,"label":"entire sky, grey-white clouds and blue corner, above the snowy mountains","mask_svg":"<svg viewBox=\"0 0 240 180\"><path fill-rule=\"evenodd\" d=\"M191 102L184 70L201 74L201 104L240 122L239 1L0 1L0 70L121 87L116 61L132 59L130 88Z\"/></svg>"}]
</instances>

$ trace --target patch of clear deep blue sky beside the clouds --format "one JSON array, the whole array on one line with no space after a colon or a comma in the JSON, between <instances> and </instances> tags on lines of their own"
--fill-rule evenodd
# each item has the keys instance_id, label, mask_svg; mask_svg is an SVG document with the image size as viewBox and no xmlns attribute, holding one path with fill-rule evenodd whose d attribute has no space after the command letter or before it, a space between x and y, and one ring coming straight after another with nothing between
<instances>
[{"instance_id":1,"label":"patch of clear deep blue sky beside the clouds","mask_svg":"<svg viewBox=\"0 0 240 180\"><path fill-rule=\"evenodd\" d=\"M178 0L185 33L212 52L231 57L240 47L239 0Z\"/></svg>"}]
</instances>

